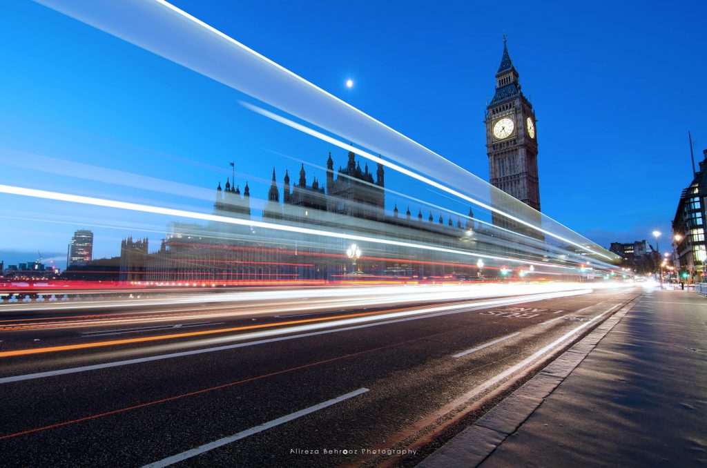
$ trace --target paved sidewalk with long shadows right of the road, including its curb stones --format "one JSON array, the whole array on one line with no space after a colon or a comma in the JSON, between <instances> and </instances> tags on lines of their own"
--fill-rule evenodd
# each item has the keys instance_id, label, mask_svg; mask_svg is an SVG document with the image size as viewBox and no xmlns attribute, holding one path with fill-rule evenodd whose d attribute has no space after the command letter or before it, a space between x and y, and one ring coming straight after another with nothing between
<instances>
[{"instance_id":1,"label":"paved sidewalk with long shadows right of the road, including its curb stones","mask_svg":"<svg viewBox=\"0 0 707 468\"><path fill-rule=\"evenodd\" d=\"M707 298L651 291L612 319L421 465L707 465Z\"/></svg>"}]
</instances>

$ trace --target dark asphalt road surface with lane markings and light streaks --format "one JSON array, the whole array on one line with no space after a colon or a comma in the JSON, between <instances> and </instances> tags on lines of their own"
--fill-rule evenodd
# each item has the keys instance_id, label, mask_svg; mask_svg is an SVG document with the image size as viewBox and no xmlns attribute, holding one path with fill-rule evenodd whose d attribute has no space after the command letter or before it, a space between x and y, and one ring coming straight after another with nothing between
<instances>
[{"instance_id":1,"label":"dark asphalt road surface with lane markings and light streaks","mask_svg":"<svg viewBox=\"0 0 707 468\"><path fill-rule=\"evenodd\" d=\"M0 310L0 464L395 464L638 293Z\"/></svg>"}]
</instances>

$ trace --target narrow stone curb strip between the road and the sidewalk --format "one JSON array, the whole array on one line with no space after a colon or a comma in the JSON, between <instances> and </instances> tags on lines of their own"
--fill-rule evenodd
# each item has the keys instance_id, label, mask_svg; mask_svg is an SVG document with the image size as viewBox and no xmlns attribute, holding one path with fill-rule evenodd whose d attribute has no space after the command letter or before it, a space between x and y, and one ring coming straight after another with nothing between
<instances>
[{"instance_id":1,"label":"narrow stone curb strip between the road and the sidewalk","mask_svg":"<svg viewBox=\"0 0 707 468\"><path fill-rule=\"evenodd\" d=\"M467 468L477 467L484 462L486 457L489 457L491 452L513 434L544 399L554 392L631 308L633 300L481 416L472 426L464 429L416 466Z\"/></svg>"}]
</instances>

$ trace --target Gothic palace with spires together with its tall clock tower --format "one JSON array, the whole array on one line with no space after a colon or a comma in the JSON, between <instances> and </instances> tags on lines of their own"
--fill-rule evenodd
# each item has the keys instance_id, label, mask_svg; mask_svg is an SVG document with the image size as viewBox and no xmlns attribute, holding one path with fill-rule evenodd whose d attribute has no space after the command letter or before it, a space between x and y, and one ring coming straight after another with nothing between
<instances>
[{"instance_id":1,"label":"Gothic palace with spires together with its tall clock tower","mask_svg":"<svg viewBox=\"0 0 707 468\"><path fill-rule=\"evenodd\" d=\"M486 107L486 151L491 185L540 209L537 173L537 139L532 105L520 90L518 71L510 61L506 40L496 73L496 94ZM262 222L250 220L250 187L240 192L235 180L216 187L214 214L224 221L206 225L172 223L170 233L156 252L148 252L148 240L122 241L120 279L123 281L184 281L199 283L248 283L250 281L310 281L397 277L481 276L476 258L460 258L448 250L483 250L508 253L518 236L509 221L493 217L501 229L490 233L469 217L413 214L409 206L392 216L385 212L385 172L378 163L374 172L361 168L353 151L345 167L334 170L327 159L325 184L316 177L308 184L304 165L291 185L286 171L282 185L272 182ZM281 187L281 188L280 188ZM492 196L493 202L493 196ZM503 201L498 201L503 206ZM512 212L510 207L506 209ZM435 213L437 215L437 213ZM233 220L233 222L228 222ZM320 234L312 233L312 230ZM390 242L358 242L361 258L346 255L351 241L332 233L351 233ZM527 233L532 237L532 234ZM406 242L435 245L437 250L405 247ZM484 244L484 245L480 245ZM522 252L521 252L522 251ZM349 251L349 254L351 252ZM514 256L542 259L542 239L529 238Z\"/></svg>"}]
</instances>

